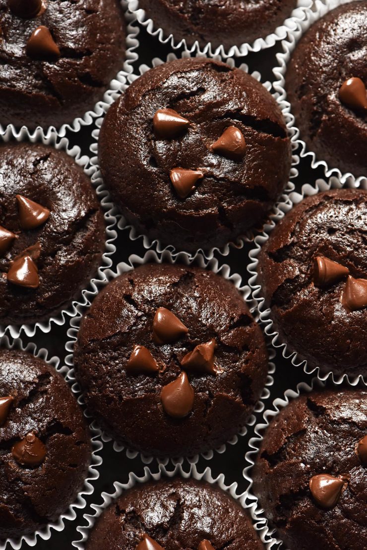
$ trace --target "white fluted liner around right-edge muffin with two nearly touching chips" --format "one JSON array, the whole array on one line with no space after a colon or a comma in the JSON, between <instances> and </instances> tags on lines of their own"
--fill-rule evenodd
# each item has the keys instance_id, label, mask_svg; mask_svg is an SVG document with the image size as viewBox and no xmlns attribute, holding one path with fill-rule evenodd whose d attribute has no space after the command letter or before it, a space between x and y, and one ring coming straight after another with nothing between
<instances>
[{"instance_id":1,"label":"white fluted liner around right-edge muffin with two nearly touching chips","mask_svg":"<svg viewBox=\"0 0 367 550\"><path fill-rule=\"evenodd\" d=\"M305 197L315 195L316 193L321 193L322 191L328 191L329 189L341 189L343 187L352 189L367 189L367 180L365 182L357 182L354 179L348 179L346 180L346 182L341 183L341 181L336 177L331 177L328 182L325 182L325 180L323 179L317 179L315 182L315 186L305 184L302 186L301 193L293 192L289 194L286 202L280 202L277 205L279 211L278 216L272 220L271 224L268 224L264 227L264 232L261 235L258 235L258 237L255 238L255 248L253 248L249 252L250 263L247 267L247 270L250 275L249 286L252 291L253 299L257 303L260 322L265 325L265 334L271 339L273 347L275 349L282 349L283 357L285 357L286 359L291 359L292 364L295 367L303 366L304 372L309 375L316 375L317 378L319 378L321 381L326 381L329 377L331 377L332 381L335 384L347 382L348 384L352 384L352 386L355 386L360 381L367 383L367 378L364 379L362 375L352 377L345 374L338 376L335 375L332 371L320 372L320 367L310 367L306 360L299 359L297 351L292 350L291 346L288 346L288 344L282 342L281 338L279 337L279 333L276 332L273 326L271 309L266 309L264 305L264 295L262 294L261 285L258 283L257 271L259 263L258 256L261 246L267 241L267 239L269 239L272 230L275 228L276 222L279 222L280 219L282 219L293 206L299 204L299 202L301 202Z\"/></svg>"}]
</instances>

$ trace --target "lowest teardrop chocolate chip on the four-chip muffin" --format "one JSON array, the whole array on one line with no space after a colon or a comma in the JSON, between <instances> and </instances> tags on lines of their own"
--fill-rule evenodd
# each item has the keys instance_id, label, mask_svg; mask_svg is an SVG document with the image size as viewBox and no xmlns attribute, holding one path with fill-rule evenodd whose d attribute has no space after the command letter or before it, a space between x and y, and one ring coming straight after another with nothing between
<instances>
[{"instance_id":1,"label":"lowest teardrop chocolate chip on the four-chip muffin","mask_svg":"<svg viewBox=\"0 0 367 550\"><path fill-rule=\"evenodd\" d=\"M194 388L185 372L167 386L163 386L161 401L163 409L173 418L184 418L191 412L194 405Z\"/></svg>"}]
</instances>

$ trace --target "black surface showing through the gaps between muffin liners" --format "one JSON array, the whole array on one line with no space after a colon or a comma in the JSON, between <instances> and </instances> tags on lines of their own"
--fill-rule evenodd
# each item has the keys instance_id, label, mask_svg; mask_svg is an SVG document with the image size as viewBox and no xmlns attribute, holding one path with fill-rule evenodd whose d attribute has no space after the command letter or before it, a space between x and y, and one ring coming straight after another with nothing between
<instances>
[{"instance_id":1,"label":"black surface showing through the gaps between muffin liners","mask_svg":"<svg viewBox=\"0 0 367 550\"><path fill-rule=\"evenodd\" d=\"M144 28L140 29L138 36L140 46L138 48L139 59L134 64L134 72L138 73L138 67L142 63L146 63L151 66L151 60L154 57L160 57L166 59L167 54L171 49L167 46L161 45L158 40L145 31ZM249 66L249 72L255 70L261 74L261 80L273 81L272 68L278 65L276 60L276 53L281 51L281 44L278 43L273 48L269 48L259 53L251 53L246 57L237 59L236 64L247 63ZM179 56L179 52L176 52ZM89 146L92 142L91 133L94 130L94 125L82 128L78 133L69 132L67 138L70 141L70 145L79 145L81 150L86 155L91 155ZM324 178L322 169L312 169L310 161L308 159L301 159L298 166L299 175L293 179L293 183L296 186L296 190L300 191L301 187L305 183L314 184L317 178ZM145 249L143 247L143 239L135 240L134 242L129 240L129 231L120 230L118 232L118 238L115 241L116 253L112 256L113 268L117 263L121 261L128 261L130 254L138 254L143 256ZM243 284L248 281L248 252L251 246L245 245L242 250L236 250L231 248L231 252L228 256L221 256L217 254L216 257L220 263L227 263L231 266L231 272L239 273L243 278ZM68 318L69 319L69 318ZM69 321L65 323L63 327L57 327L52 325L51 332L43 334L41 331L37 331L33 338L27 338L22 335L25 343L29 340L35 342L37 346L45 347L50 352L50 355L58 355L61 359L61 365L63 365L65 353L65 342L67 342L67 329L69 328ZM277 354L275 360L276 372L274 375L274 384L271 388L271 396L265 401L265 408L271 408L272 401L277 397L282 397L286 389L295 389L297 384L302 381L311 381L311 376L305 375L302 367L294 367L290 361L284 360L280 353ZM261 420L262 414L258 414L256 422ZM253 429L250 429L248 434L244 437L240 437L236 445L227 445L227 450L224 454L215 453L211 460L200 459L198 463L199 471L203 471L206 466L209 466L212 470L213 477L223 473L226 476L226 484L237 482L238 491L243 492L247 489L248 483L245 481L242 471L247 465L245 461L245 453L249 450L248 442L253 437ZM100 453L103 458L103 464L99 468L100 477L94 482L94 493L86 497L87 506L84 510L79 510L75 521L65 522L65 529L62 532L52 531L50 540L43 541L40 538L37 539L37 550L65 550L71 549L72 541L79 540L81 538L80 533L76 531L76 526L86 525L86 521L83 519L83 513L94 513L90 509L89 505L92 503L101 504L101 492L113 492L113 482L121 481L127 482L130 471L135 472L138 475L143 475L144 464L140 458L129 459L124 452L116 453L113 450L112 443L105 443L102 452ZM158 466L156 461L153 461L149 467L153 471L157 471ZM173 469L173 466L168 466ZM188 463L185 462L184 469L188 470Z\"/></svg>"}]
</instances>

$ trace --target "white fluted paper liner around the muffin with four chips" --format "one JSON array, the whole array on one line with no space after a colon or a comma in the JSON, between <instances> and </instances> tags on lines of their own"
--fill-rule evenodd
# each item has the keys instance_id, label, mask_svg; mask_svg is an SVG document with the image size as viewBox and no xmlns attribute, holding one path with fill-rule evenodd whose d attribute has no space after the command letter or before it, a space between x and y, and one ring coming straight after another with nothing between
<instances>
[{"instance_id":1,"label":"white fluted paper liner around the muffin with four chips","mask_svg":"<svg viewBox=\"0 0 367 550\"><path fill-rule=\"evenodd\" d=\"M95 298L95 296L100 292L100 290L107 285L109 281L112 281L112 279L118 277L119 275L129 272L133 270L135 267L138 267L140 265L143 265L145 263L183 263L184 265L196 265L202 268L205 268L207 270L212 271L213 273L217 273L223 278L227 279L227 281L231 281L235 287L239 290L239 292L243 295L243 298L245 301L249 302L249 295L250 295L250 289L249 287L242 285L242 279L237 274L231 274L230 268L228 265L218 265L218 261L216 259L212 259L210 261L206 260L204 256L201 254L196 254L194 258L191 258L188 254L185 254L184 252L180 252L176 256L173 256L168 250L163 252L161 255L157 255L157 253L153 250L149 250L145 253L144 257L139 257L136 255L131 255L128 259L128 263L120 262L117 267L116 271L106 270L104 272L104 280L98 281L95 284L95 290L94 292L88 292L86 293L86 299L87 302L84 305L78 305L76 307L76 316L70 321L70 328L68 330L68 336L70 340L67 342L65 348L70 353L70 355L67 355L65 357L65 363L70 367L70 373L69 378L75 382L73 385L73 391L75 393L80 393L80 387L78 382L76 382L76 377L74 373L74 362L73 362L73 350L74 350L74 344L76 342L76 339L78 337L78 330L80 327L81 319L84 316L84 313L89 309L89 306L92 302L92 300ZM248 306L251 307L253 305L253 302L248 303ZM270 359L272 359L275 356L275 353L273 353L273 350L270 350ZM227 443L221 445L220 447L215 449L216 453L222 454L227 448L227 444L229 445L235 445L238 442L238 438L240 436L244 436L249 426L253 426L255 424L255 416L254 413L261 412L264 410L264 403L263 401L269 398L270 392L269 389L273 384L273 377L271 376L275 372L275 365L269 361L269 368L268 368L268 375L266 379L266 384L264 389L262 390L262 393L260 395L258 403L255 405L255 408L253 410L253 413L249 416L247 422L245 425L241 428L241 430L233 436ZM79 397L79 403L85 404L83 394ZM86 415L92 419L93 415L89 410L86 410ZM95 426L97 429L102 430L99 423L95 420L92 422L92 425ZM136 456L140 456L140 459L145 464L151 463L151 461L155 458L151 455L145 455L143 453L140 453L135 450L128 449L123 444L116 441L113 437L111 437L106 431L102 430L102 441L103 442L109 442L113 441L113 448L117 452L124 451L125 454L128 456L128 458L135 458ZM200 456L202 456L206 460L210 460L213 457L214 450L210 450L206 453L200 453L196 454L194 456L182 456L178 457L177 459L173 458L164 458L164 459L157 459L155 458L158 463L160 464L168 464L169 461L171 461L173 464L182 464L184 460L187 460L190 464L197 463Z\"/></svg>"}]
</instances>

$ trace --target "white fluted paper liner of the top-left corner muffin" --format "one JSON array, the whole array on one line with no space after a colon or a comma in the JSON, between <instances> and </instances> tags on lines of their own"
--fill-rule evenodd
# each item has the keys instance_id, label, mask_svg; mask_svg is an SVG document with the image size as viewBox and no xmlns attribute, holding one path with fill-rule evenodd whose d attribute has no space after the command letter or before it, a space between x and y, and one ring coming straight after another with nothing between
<instances>
[{"instance_id":1,"label":"white fluted paper liner of the top-left corner muffin","mask_svg":"<svg viewBox=\"0 0 367 550\"><path fill-rule=\"evenodd\" d=\"M65 123L60 128L55 128L50 126L48 128L43 128L43 133L48 138L54 131L60 136L64 137L67 131L78 132L84 126L90 126L94 123L97 117L100 117L104 112L104 106L111 105L122 89L123 84L125 83L126 76L129 73L133 72L133 64L138 59L138 54L136 53L136 48L139 46L138 34L139 28L134 23L136 23L135 16L128 13L127 10L127 0L121 0L122 7L124 9L124 17L126 21L126 52L125 52L125 61L122 63L122 69L117 73L116 77L111 80L108 85L108 89L105 91L100 101L97 101L93 109L87 111L80 117L74 118L73 122ZM0 124L0 135L6 133L9 129L14 135L23 131L26 127L22 126L20 129L14 127L13 124L8 124L6 127ZM36 133L40 130L41 127L37 127L33 133Z\"/></svg>"}]
</instances>

